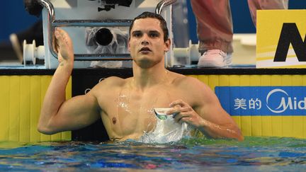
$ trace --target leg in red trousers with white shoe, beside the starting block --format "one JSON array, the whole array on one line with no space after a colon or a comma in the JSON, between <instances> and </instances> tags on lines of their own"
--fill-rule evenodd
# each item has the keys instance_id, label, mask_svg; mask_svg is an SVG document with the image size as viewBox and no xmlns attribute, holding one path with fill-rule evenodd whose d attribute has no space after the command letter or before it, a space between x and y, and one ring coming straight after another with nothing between
<instances>
[{"instance_id":1,"label":"leg in red trousers with white shoe, beside the starting block","mask_svg":"<svg viewBox=\"0 0 306 172\"><path fill-rule=\"evenodd\" d=\"M232 64L233 25L229 1L191 0L191 6L197 21L199 52L203 53L198 67Z\"/></svg>"}]
</instances>

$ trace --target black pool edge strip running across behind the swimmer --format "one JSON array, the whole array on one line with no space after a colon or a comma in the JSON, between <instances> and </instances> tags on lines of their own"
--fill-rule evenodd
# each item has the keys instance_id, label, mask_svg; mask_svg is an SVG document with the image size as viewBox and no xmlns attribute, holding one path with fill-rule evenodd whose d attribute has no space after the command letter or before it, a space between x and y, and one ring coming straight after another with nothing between
<instances>
[{"instance_id":1,"label":"black pool edge strip running across behind the swimmer","mask_svg":"<svg viewBox=\"0 0 306 172\"><path fill-rule=\"evenodd\" d=\"M229 68L197 68L197 67L171 67L170 71L185 75L305 75L306 69L256 69L253 66L240 65ZM42 66L23 67L23 66L0 66L0 75L52 75L55 69L44 69ZM73 69L72 74L132 74L131 68L86 68Z\"/></svg>"}]
</instances>

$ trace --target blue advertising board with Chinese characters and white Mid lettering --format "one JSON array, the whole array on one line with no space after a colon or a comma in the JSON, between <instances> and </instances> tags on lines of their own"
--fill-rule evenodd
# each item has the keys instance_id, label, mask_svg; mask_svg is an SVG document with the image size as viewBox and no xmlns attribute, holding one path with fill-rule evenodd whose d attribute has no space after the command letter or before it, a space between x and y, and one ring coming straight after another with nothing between
<instances>
[{"instance_id":1,"label":"blue advertising board with Chinese characters and white Mid lettering","mask_svg":"<svg viewBox=\"0 0 306 172\"><path fill-rule=\"evenodd\" d=\"M230 115L306 115L306 86L216 86Z\"/></svg>"}]
</instances>

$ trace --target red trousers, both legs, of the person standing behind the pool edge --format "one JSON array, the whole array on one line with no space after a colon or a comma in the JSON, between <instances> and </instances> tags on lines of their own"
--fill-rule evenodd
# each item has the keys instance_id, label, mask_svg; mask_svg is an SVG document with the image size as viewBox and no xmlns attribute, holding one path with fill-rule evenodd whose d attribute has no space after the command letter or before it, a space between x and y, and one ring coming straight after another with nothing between
<instances>
[{"instance_id":1,"label":"red trousers, both legs, of the person standing behind the pool edge","mask_svg":"<svg viewBox=\"0 0 306 172\"><path fill-rule=\"evenodd\" d=\"M241 1L241 0L239 0ZM288 0L248 0L249 11L256 26L256 10L288 9ZM199 51L233 52L233 24L229 0L191 0L197 21Z\"/></svg>"}]
</instances>

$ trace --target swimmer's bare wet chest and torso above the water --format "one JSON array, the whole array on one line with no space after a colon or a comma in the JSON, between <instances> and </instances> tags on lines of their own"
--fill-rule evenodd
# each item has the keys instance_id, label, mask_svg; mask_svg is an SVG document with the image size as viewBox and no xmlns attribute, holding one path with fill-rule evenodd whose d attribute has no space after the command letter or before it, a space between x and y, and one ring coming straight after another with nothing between
<instances>
[{"instance_id":1,"label":"swimmer's bare wet chest and torso above the water","mask_svg":"<svg viewBox=\"0 0 306 172\"><path fill-rule=\"evenodd\" d=\"M111 77L105 82L113 82L113 91L107 93L108 89L98 85L91 91L99 106L105 107L100 114L111 140L139 139L145 132L152 132L157 123L153 108L169 108L171 102L181 98L193 103L191 97L186 97L188 90L178 86L186 76L170 71L165 74L161 83L144 90L137 89L132 78ZM179 78L174 80L171 76Z\"/></svg>"}]
</instances>

